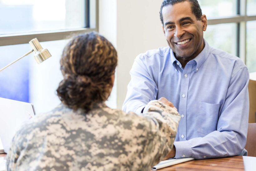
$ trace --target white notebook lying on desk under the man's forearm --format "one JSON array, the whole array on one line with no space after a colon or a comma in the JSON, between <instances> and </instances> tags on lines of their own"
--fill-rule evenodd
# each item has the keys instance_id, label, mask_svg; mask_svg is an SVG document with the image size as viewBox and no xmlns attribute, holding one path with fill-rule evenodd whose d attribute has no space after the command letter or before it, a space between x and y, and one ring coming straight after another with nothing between
<instances>
[{"instance_id":1,"label":"white notebook lying on desk under the man's forearm","mask_svg":"<svg viewBox=\"0 0 256 171\"><path fill-rule=\"evenodd\" d=\"M194 158L190 157L190 158L163 160L163 161L160 161L159 164L152 167L152 170L158 170L158 169L166 168L166 167L169 167L169 166L172 166L172 165L175 165L175 164L179 164L179 163L183 163L183 162L186 162L186 161L190 161L190 160L194 160Z\"/></svg>"}]
</instances>

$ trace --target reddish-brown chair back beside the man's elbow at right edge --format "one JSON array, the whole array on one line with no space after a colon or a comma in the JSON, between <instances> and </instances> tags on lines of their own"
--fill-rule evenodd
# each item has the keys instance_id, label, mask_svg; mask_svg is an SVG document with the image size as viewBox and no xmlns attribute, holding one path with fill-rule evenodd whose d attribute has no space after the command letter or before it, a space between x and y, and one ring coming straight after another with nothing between
<instances>
[{"instance_id":1,"label":"reddish-brown chair back beside the man's elbow at right edge","mask_svg":"<svg viewBox=\"0 0 256 171\"><path fill-rule=\"evenodd\" d=\"M248 124L245 149L248 151L248 156L256 157L256 123Z\"/></svg>"}]
</instances>

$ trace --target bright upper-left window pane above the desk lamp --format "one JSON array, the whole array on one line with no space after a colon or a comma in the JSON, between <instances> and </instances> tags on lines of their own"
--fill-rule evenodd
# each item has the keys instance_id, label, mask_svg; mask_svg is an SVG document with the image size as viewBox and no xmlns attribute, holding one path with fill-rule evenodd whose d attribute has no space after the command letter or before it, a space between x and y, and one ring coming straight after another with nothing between
<instances>
[{"instance_id":1,"label":"bright upper-left window pane above the desk lamp","mask_svg":"<svg viewBox=\"0 0 256 171\"><path fill-rule=\"evenodd\" d=\"M0 1L1 34L77 29L86 25L86 1ZM50 5L51 4L51 5ZM84 15L82 15L84 14Z\"/></svg>"}]
</instances>

